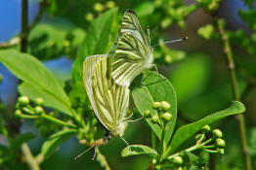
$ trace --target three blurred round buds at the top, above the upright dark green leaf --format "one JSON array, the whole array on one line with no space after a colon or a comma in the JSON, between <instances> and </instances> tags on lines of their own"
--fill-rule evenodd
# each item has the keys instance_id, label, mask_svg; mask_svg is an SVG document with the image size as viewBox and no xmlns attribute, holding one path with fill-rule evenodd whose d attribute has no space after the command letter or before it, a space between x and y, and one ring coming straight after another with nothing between
<instances>
[{"instance_id":1,"label":"three blurred round buds at the top, above the upright dark green leaf","mask_svg":"<svg viewBox=\"0 0 256 170\"><path fill-rule=\"evenodd\" d=\"M107 9L112 9L115 7L115 3L113 1L107 1L105 4L102 4L100 2L97 2L94 4L94 13L87 13L85 15L85 19L89 22L92 22L96 16L99 16L103 12L105 12Z\"/></svg>"}]
</instances>

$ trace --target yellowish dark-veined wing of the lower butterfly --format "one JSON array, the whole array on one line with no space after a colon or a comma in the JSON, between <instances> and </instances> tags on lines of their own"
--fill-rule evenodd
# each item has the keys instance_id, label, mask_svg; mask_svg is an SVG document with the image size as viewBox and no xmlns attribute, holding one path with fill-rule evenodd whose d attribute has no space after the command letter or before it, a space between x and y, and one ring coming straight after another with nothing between
<instances>
[{"instance_id":1,"label":"yellowish dark-veined wing of the lower butterfly","mask_svg":"<svg viewBox=\"0 0 256 170\"><path fill-rule=\"evenodd\" d=\"M129 88L107 79L107 55L87 57L83 63L83 79L96 117L113 135L120 135L129 105Z\"/></svg>"}]
</instances>

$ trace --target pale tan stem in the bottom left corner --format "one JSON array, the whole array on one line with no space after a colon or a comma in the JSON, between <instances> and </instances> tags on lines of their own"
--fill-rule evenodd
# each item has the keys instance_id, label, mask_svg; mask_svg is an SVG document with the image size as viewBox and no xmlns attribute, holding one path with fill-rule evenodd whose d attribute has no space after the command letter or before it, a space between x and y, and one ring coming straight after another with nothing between
<instances>
[{"instance_id":1,"label":"pale tan stem in the bottom left corner","mask_svg":"<svg viewBox=\"0 0 256 170\"><path fill-rule=\"evenodd\" d=\"M30 150L29 150L29 148L28 148L26 143L23 143L21 145L21 152L24 155L25 162L28 165L30 170L40 170L38 162L33 157L32 153L30 152Z\"/></svg>"}]
</instances>

